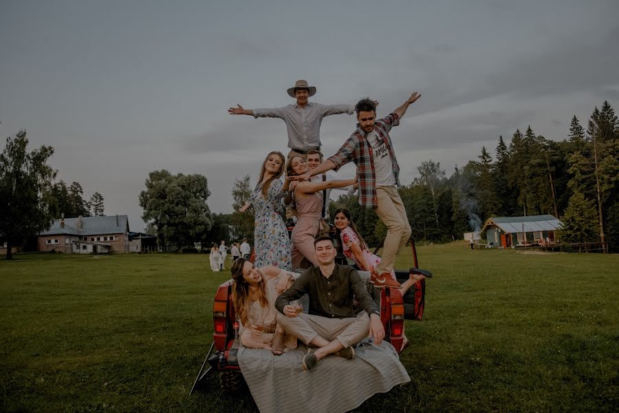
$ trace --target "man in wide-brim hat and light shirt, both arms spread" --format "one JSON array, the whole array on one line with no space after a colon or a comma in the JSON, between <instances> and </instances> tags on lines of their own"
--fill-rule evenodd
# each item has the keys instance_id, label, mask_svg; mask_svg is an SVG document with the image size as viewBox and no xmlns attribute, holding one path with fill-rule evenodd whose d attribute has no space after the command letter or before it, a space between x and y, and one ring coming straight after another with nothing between
<instances>
[{"instance_id":1,"label":"man in wide-brim hat and light shirt, both arms spread","mask_svg":"<svg viewBox=\"0 0 619 413\"><path fill-rule=\"evenodd\" d=\"M283 107L243 109L241 105L230 107L231 115L251 115L254 118L280 118L286 123L288 131L288 158L294 155L304 156L311 149L321 148L321 123L323 118L329 115L353 114L355 106L322 105L321 103L308 102L307 98L316 94L316 87L308 85L307 81L298 80L294 86L287 89L291 98L296 98L296 103Z\"/></svg>"}]
</instances>

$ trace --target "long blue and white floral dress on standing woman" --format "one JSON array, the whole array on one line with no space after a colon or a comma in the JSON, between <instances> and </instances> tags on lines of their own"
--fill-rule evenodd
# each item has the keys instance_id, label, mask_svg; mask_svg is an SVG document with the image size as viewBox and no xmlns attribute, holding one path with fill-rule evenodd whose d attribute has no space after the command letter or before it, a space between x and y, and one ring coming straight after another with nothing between
<instances>
[{"instance_id":1,"label":"long blue and white floral dress on standing woman","mask_svg":"<svg viewBox=\"0 0 619 413\"><path fill-rule=\"evenodd\" d=\"M252 192L250 203L254 207L254 248L256 249L257 267L276 266L285 271L292 271L290 259L290 238L281 218L283 207L281 198L285 195L281 180L271 182L266 199L262 187L258 185Z\"/></svg>"}]
</instances>

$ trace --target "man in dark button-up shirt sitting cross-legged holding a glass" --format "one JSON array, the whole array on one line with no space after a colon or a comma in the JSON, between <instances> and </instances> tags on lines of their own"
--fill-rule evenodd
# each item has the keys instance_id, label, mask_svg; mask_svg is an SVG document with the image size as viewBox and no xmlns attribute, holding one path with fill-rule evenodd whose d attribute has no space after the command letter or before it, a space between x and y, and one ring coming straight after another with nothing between
<instances>
[{"instance_id":1,"label":"man in dark button-up shirt sitting cross-legged holding a glass","mask_svg":"<svg viewBox=\"0 0 619 413\"><path fill-rule=\"evenodd\" d=\"M352 346L365 337L373 337L377 346L384 338L378 305L367 293L359 273L335 263L336 248L330 237L316 238L314 247L318 266L305 271L275 301L277 323L307 346L318 347L303 357L305 370L312 370L329 354L353 359ZM305 293L310 296L310 312L299 314L290 301ZM365 310L358 315L353 310L353 298Z\"/></svg>"}]
</instances>

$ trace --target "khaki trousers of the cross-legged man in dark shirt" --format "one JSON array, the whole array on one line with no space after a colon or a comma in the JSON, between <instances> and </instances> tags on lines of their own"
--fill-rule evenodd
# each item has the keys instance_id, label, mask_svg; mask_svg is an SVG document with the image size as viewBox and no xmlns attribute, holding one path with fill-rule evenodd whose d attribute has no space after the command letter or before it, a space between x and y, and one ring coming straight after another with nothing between
<instances>
[{"instance_id":1,"label":"khaki trousers of the cross-legged man in dark shirt","mask_svg":"<svg viewBox=\"0 0 619 413\"><path fill-rule=\"evenodd\" d=\"M362 311L357 317L343 319L321 317L301 313L296 317L286 317L277 312L277 324L305 345L321 336L327 341L338 339L344 348L354 346L369 334L369 315Z\"/></svg>"}]
</instances>

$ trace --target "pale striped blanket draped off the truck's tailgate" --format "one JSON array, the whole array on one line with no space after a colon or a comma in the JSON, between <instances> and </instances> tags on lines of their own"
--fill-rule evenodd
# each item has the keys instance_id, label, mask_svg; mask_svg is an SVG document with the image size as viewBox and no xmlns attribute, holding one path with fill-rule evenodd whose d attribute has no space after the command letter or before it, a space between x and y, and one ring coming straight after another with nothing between
<instances>
[{"instance_id":1,"label":"pale striped blanket draped off the truck's tailgate","mask_svg":"<svg viewBox=\"0 0 619 413\"><path fill-rule=\"evenodd\" d=\"M356 347L355 359L332 355L311 372L303 370L307 348L299 343L281 356L269 350L239 349L241 372L261 412L347 412L373 394L411 381L387 341L374 346L366 339Z\"/></svg>"}]
</instances>

